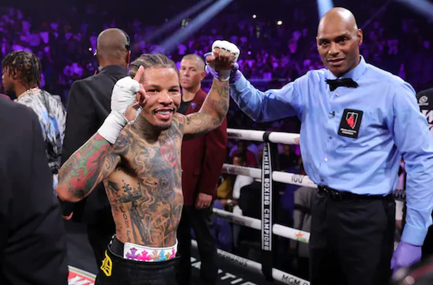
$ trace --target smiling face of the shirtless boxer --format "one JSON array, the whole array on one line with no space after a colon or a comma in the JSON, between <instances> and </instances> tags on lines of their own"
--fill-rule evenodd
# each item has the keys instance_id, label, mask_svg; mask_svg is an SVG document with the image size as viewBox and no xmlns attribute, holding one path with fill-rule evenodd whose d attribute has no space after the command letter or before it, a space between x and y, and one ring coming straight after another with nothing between
<instances>
[{"instance_id":1,"label":"smiling face of the shirtless boxer","mask_svg":"<svg viewBox=\"0 0 433 285\"><path fill-rule=\"evenodd\" d=\"M181 103L177 71L171 67L147 68L142 84L149 98L140 115L161 130L170 128Z\"/></svg>"}]
</instances>

